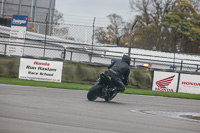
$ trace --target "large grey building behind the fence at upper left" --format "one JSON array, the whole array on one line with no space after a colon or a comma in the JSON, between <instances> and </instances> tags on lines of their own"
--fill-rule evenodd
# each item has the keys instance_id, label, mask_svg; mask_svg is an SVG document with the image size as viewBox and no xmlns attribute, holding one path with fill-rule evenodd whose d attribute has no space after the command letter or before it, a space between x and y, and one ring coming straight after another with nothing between
<instances>
[{"instance_id":1,"label":"large grey building behind the fence at upper left","mask_svg":"<svg viewBox=\"0 0 200 133\"><path fill-rule=\"evenodd\" d=\"M45 34L46 19L53 23L56 0L0 0L0 25L10 26L13 15L29 17L28 30ZM51 35L52 26L48 25Z\"/></svg>"}]
</instances>

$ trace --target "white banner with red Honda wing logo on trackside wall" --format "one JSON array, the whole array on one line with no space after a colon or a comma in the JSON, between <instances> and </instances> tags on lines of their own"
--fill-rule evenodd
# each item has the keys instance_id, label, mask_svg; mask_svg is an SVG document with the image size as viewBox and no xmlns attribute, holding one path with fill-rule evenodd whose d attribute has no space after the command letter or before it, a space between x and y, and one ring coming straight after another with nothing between
<instances>
[{"instance_id":1,"label":"white banner with red Honda wing logo on trackside wall","mask_svg":"<svg viewBox=\"0 0 200 133\"><path fill-rule=\"evenodd\" d=\"M176 92L178 85L178 73L154 71L154 91Z\"/></svg>"}]
</instances>

